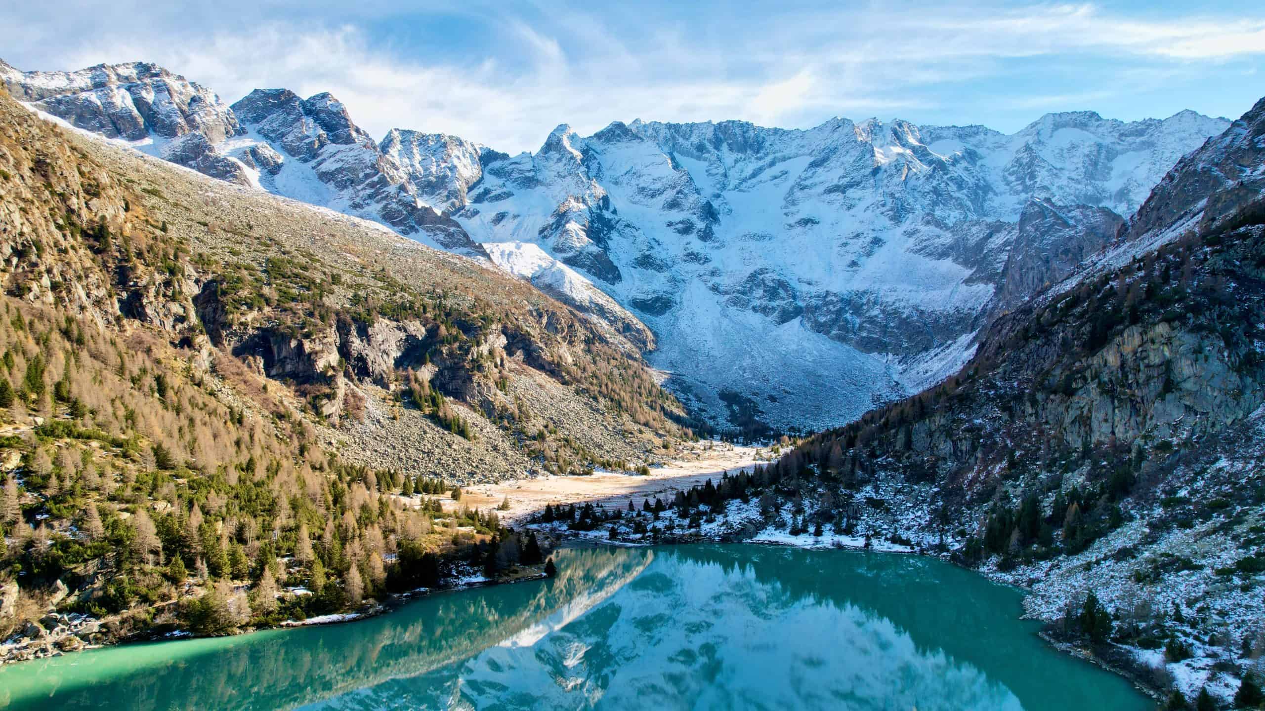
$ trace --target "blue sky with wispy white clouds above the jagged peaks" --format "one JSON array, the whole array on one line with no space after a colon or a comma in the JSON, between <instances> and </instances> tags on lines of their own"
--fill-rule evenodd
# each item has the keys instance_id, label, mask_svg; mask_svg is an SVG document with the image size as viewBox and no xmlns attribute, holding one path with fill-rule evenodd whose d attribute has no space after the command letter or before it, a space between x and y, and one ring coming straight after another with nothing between
<instances>
[{"instance_id":1,"label":"blue sky with wispy white clouds above the jagged peaks","mask_svg":"<svg viewBox=\"0 0 1265 711\"><path fill-rule=\"evenodd\" d=\"M0 58L147 59L235 101L331 91L393 127L534 151L558 124L831 116L984 124L1049 111L1236 118L1265 95L1260 3L5 3ZM159 5L156 8L156 5Z\"/></svg>"}]
</instances>

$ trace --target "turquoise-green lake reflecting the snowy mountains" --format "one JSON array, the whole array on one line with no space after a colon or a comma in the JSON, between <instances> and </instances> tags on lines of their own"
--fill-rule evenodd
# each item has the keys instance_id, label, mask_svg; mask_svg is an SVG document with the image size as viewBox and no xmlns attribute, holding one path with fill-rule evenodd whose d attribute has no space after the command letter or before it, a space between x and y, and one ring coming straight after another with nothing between
<instances>
[{"instance_id":1,"label":"turquoise-green lake reflecting the snowy mountains","mask_svg":"<svg viewBox=\"0 0 1265 711\"><path fill-rule=\"evenodd\" d=\"M1154 708L1046 646L1018 591L939 560L759 545L558 558L554 579L352 624L0 667L0 708Z\"/></svg>"}]
</instances>

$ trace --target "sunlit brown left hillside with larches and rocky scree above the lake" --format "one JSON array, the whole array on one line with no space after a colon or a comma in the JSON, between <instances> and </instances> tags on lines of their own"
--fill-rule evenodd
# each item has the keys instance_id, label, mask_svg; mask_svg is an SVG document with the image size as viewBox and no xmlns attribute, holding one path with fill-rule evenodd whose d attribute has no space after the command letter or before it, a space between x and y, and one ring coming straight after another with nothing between
<instances>
[{"instance_id":1,"label":"sunlit brown left hillside with larches and rocky scree above the lake","mask_svg":"<svg viewBox=\"0 0 1265 711\"><path fill-rule=\"evenodd\" d=\"M539 562L452 491L692 436L635 352L530 285L3 94L0 256L5 654Z\"/></svg>"}]
</instances>

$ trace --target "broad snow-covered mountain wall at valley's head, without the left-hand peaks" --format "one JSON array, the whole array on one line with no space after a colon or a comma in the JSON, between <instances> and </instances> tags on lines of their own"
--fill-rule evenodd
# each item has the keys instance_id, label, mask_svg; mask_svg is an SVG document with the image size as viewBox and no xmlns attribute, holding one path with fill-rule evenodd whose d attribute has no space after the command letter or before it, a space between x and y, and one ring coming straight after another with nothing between
<instances>
[{"instance_id":1,"label":"broad snow-covered mountain wall at valley's head, without the left-hand peaks","mask_svg":"<svg viewBox=\"0 0 1265 711\"><path fill-rule=\"evenodd\" d=\"M630 307L659 335L651 362L702 409L821 426L955 371L988 314L1101 249L1226 125L1189 111L1054 114L1013 135L563 125L535 154L484 161L454 218L478 242L539 245Z\"/></svg>"}]
</instances>

